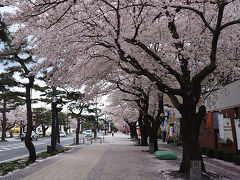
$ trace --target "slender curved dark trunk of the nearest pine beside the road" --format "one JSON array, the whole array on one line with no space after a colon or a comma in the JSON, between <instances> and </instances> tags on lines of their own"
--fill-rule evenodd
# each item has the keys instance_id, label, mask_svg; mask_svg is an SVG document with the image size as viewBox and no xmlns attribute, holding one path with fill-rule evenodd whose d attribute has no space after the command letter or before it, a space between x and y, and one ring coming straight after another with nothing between
<instances>
[{"instance_id":1,"label":"slender curved dark trunk of the nearest pine beside the road","mask_svg":"<svg viewBox=\"0 0 240 180\"><path fill-rule=\"evenodd\" d=\"M31 88L33 87L34 77L29 77L29 83L26 85L26 106L27 106L27 133L25 137L25 145L29 152L29 162L33 163L36 161L35 147L31 141L32 134L32 107L31 107Z\"/></svg>"}]
</instances>

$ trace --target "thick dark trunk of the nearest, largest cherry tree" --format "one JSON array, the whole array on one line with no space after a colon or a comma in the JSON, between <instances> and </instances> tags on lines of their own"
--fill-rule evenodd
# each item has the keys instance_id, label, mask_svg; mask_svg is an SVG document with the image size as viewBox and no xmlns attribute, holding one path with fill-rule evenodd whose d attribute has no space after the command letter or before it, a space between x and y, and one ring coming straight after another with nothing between
<instances>
[{"instance_id":1,"label":"thick dark trunk of the nearest, largest cherry tree","mask_svg":"<svg viewBox=\"0 0 240 180\"><path fill-rule=\"evenodd\" d=\"M183 143L183 157L180 165L180 172L189 173L191 160L201 161L201 169L202 171L206 171L199 145L199 129L205 114L206 109L203 106L200 107L198 113L196 113L196 106L194 105L191 107L184 107L182 119L180 121Z\"/></svg>"}]
</instances>

